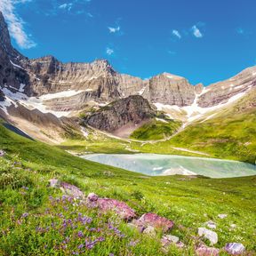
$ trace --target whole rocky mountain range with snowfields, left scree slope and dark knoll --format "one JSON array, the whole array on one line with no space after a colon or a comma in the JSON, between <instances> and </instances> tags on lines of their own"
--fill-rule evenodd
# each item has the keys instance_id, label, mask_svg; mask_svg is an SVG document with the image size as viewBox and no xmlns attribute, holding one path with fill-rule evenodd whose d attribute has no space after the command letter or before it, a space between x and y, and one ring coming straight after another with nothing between
<instances>
[{"instance_id":1,"label":"whole rocky mountain range with snowfields, left scree slope and dark knoll","mask_svg":"<svg viewBox=\"0 0 256 256\"><path fill-rule=\"evenodd\" d=\"M179 134L172 138L175 140L195 125L203 127L212 122L213 127L218 118L226 120L233 108L239 108L239 115L244 115L241 120L246 120L248 108L252 115L255 113L255 98L250 104L246 100L255 95L255 90L256 67L204 87L166 72L147 80L120 74L108 60L62 63L50 55L29 60L12 47L0 12L0 116L38 140L59 144L84 138L84 120L97 129L129 137L127 132L131 135L136 125L145 124L147 118L143 115L153 112L182 123L176 131ZM229 116L235 118L236 111L232 113ZM84 115L86 118L81 118ZM149 115L148 121L156 118L154 115ZM164 119L157 122L164 124ZM235 130L241 127L237 124ZM255 131L253 124L251 129ZM239 140L236 142L240 143Z\"/></svg>"}]
</instances>

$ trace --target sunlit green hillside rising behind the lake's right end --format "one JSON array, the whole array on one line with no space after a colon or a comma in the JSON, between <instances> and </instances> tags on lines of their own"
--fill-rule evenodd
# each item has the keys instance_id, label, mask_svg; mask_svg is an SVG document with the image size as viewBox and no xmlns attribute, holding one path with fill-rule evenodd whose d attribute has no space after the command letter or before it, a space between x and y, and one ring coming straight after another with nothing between
<instances>
[{"instance_id":1,"label":"sunlit green hillside rising behind the lake's right end","mask_svg":"<svg viewBox=\"0 0 256 256\"><path fill-rule=\"evenodd\" d=\"M145 144L142 152L172 154L172 147L208 153L212 157L250 162L256 161L256 92L240 100L218 116L189 125L171 140ZM134 145L135 149L139 148Z\"/></svg>"}]
</instances>

